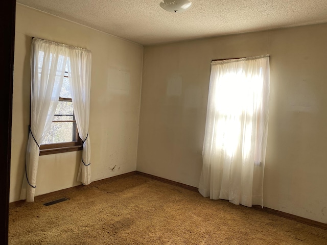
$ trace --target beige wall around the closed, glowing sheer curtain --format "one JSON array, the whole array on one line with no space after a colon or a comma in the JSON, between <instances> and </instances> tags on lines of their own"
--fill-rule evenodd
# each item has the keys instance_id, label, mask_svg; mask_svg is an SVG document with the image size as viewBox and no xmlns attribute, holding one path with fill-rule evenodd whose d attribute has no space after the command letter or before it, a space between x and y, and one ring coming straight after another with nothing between
<instances>
[{"instance_id":1,"label":"beige wall around the closed, glowing sheer curtain","mask_svg":"<svg viewBox=\"0 0 327 245\"><path fill-rule=\"evenodd\" d=\"M327 223L327 24L145 47L137 170L198 186L211 60L267 53L264 206Z\"/></svg>"}]
</instances>

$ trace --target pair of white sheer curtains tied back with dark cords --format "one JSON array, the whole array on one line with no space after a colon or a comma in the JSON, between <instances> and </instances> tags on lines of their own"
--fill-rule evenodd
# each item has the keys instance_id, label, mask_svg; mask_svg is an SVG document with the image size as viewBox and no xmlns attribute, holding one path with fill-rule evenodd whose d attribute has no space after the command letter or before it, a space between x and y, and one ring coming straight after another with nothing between
<instances>
[{"instance_id":1,"label":"pair of white sheer curtains tied back with dark cords","mask_svg":"<svg viewBox=\"0 0 327 245\"><path fill-rule=\"evenodd\" d=\"M64 78L66 63L70 64L72 92L76 124L83 145L85 164L78 181L90 183L90 140L88 135L90 93L90 51L48 40L33 38L31 48L31 127L26 152L25 177L21 199L34 201L39 146L50 130ZM70 77L70 76L69 76ZM83 162L82 159L82 162ZM81 165L82 165L81 162ZM87 168L87 169L85 169ZM86 173L86 174L84 174Z\"/></svg>"}]
</instances>

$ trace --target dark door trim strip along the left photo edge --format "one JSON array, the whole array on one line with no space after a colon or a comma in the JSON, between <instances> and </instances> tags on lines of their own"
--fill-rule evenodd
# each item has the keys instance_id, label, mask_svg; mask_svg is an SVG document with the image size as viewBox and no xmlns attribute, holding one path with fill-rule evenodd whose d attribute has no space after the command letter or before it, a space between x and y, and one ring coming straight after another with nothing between
<instances>
[{"instance_id":1,"label":"dark door trim strip along the left photo edge","mask_svg":"<svg viewBox=\"0 0 327 245\"><path fill-rule=\"evenodd\" d=\"M0 8L0 244L8 244L11 154L12 87L14 72L16 0L2 1Z\"/></svg>"}]
</instances>

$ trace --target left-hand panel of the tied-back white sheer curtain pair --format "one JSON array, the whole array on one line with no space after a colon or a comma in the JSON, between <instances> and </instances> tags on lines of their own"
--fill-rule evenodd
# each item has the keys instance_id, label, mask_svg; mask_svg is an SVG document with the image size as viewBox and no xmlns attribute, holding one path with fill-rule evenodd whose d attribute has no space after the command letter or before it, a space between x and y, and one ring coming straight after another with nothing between
<instances>
[{"instance_id":1,"label":"left-hand panel of the tied-back white sheer curtain pair","mask_svg":"<svg viewBox=\"0 0 327 245\"><path fill-rule=\"evenodd\" d=\"M21 199L34 201L39 145L51 127L67 61L66 48L34 38L31 48L31 127Z\"/></svg>"}]
</instances>

